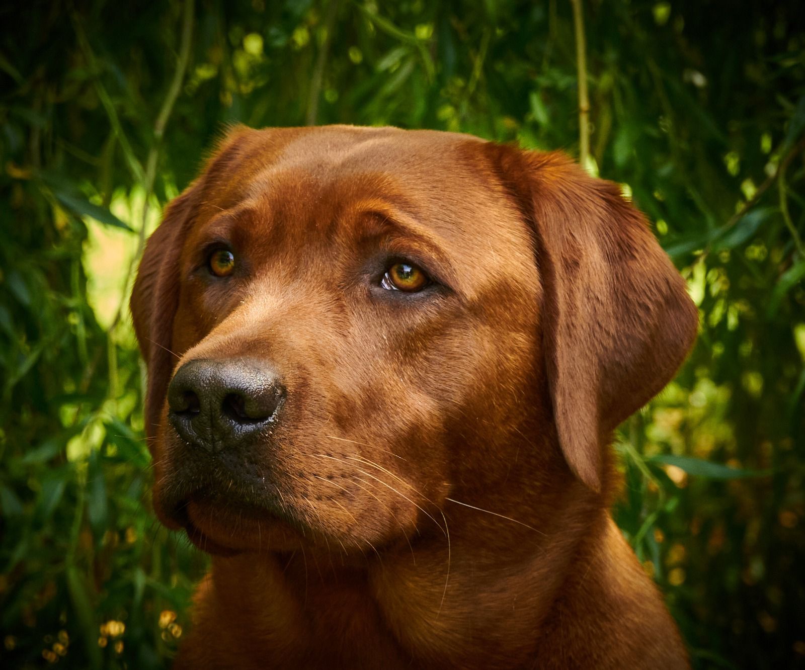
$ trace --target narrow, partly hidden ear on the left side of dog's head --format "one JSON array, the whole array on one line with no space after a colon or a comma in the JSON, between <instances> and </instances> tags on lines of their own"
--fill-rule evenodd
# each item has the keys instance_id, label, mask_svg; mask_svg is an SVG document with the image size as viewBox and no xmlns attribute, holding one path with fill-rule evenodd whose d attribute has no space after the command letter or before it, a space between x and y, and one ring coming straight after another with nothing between
<instances>
[{"instance_id":1,"label":"narrow, partly hidden ear on the left side of dog's head","mask_svg":"<svg viewBox=\"0 0 805 670\"><path fill-rule=\"evenodd\" d=\"M217 188L225 188L225 176L237 163L242 139L250 130L236 126L213 151L201 176L167 206L162 222L148 239L137 279L131 292L130 309L134 333L148 368L145 428L154 436L167 384L179 360L171 349L173 317L179 305L179 260L184 238L204 200Z\"/></svg>"}]
</instances>

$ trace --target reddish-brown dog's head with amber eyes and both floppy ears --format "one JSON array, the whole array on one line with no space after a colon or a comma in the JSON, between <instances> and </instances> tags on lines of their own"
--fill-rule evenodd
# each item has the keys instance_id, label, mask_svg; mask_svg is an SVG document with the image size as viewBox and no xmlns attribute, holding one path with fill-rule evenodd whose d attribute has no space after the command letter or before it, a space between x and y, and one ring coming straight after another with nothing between
<instances>
[{"instance_id":1,"label":"reddish-brown dog's head with amber eyes and both floppy ears","mask_svg":"<svg viewBox=\"0 0 805 670\"><path fill-rule=\"evenodd\" d=\"M232 130L148 242L131 308L155 508L213 552L378 547L505 480L600 494L610 433L696 333L615 184L349 126Z\"/></svg>"}]
</instances>

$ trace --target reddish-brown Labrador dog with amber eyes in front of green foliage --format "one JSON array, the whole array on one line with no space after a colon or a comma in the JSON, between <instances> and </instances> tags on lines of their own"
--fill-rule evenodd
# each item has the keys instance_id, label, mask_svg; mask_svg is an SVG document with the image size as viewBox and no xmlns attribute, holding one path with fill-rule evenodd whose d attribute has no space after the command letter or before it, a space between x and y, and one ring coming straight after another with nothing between
<instances>
[{"instance_id":1,"label":"reddish-brown Labrador dog with amber eyes in front of green foliage","mask_svg":"<svg viewBox=\"0 0 805 670\"><path fill-rule=\"evenodd\" d=\"M696 337L617 184L464 134L231 128L131 297L175 668L686 668L613 430Z\"/></svg>"}]
</instances>

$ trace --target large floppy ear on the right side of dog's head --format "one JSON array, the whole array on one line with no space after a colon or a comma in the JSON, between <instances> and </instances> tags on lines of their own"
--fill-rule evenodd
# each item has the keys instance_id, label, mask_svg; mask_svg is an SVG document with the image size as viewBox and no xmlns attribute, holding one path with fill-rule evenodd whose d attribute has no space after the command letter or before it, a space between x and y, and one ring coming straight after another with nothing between
<instances>
[{"instance_id":1,"label":"large floppy ear on the right side of dog's head","mask_svg":"<svg viewBox=\"0 0 805 670\"><path fill-rule=\"evenodd\" d=\"M605 441L671 380L696 338L698 312L617 184L558 153L486 147L533 234L559 444L598 491Z\"/></svg>"}]
</instances>

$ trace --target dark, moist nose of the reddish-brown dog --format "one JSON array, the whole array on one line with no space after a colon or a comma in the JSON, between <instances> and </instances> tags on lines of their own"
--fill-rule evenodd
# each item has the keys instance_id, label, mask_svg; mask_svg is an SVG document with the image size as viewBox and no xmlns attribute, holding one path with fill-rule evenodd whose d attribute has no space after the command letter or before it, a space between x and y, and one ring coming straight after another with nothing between
<instances>
[{"instance_id":1,"label":"dark, moist nose of the reddish-brown dog","mask_svg":"<svg viewBox=\"0 0 805 670\"><path fill-rule=\"evenodd\" d=\"M229 449L275 420L285 388L270 370L241 360L185 363L167 389L176 432L211 452Z\"/></svg>"}]
</instances>

